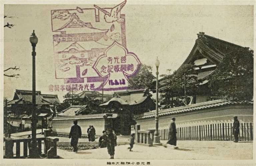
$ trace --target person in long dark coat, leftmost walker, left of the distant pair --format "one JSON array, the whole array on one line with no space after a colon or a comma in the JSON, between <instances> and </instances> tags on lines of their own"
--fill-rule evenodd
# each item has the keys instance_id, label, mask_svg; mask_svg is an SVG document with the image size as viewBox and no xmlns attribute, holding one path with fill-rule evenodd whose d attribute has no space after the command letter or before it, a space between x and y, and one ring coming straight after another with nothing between
<instances>
[{"instance_id":1,"label":"person in long dark coat, leftmost walker, left of the distant pair","mask_svg":"<svg viewBox=\"0 0 256 166\"><path fill-rule=\"evenodd\" d=\"M71 138L71 146L73 147L73 152L77 152L78 139L81 138L82 131L81 127L77 125L77 120L74 120L74 125L71 127L68 138Z\"/></svg>"}]
</instances>

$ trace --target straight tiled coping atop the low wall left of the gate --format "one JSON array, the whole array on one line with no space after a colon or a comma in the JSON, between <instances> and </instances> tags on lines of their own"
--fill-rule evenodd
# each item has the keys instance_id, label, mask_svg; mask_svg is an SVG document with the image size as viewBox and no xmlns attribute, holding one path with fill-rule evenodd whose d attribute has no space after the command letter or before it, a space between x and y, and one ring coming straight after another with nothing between
<instances>
[{"instance_id":1,"label":"straight tiled coping atop the low wall left of the gate","mask_svg":"<svg viewBox=\"0 0 256 166\"><path fill-rule=\"evenodd\" d=\"M104 119L104 118L116 118L116 117L118 117L118 114L107 114L107 113L105 113L105 114L54 117L52 120Z\"/></svg>"}]
</instances>

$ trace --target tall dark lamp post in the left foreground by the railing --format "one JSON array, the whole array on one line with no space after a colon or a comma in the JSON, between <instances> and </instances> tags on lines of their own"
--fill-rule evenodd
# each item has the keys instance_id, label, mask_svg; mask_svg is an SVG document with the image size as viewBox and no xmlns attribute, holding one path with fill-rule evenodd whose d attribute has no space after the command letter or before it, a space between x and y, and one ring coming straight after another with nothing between
<instances>
[{"instance_id":1,"label":"tall dark lamp post in the left foreground by the railing","mask_svg":"<svg viewBox=\"0 0 256 166\"><path fill-rule=\"evenodd\" d=\"M38 38L36 37L35 30L29 38L32 45L32 141L29 156L30 158L38 157L37 141L36 141L36 44Z\"/></svg>"}]
</instances>

